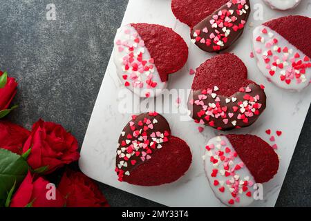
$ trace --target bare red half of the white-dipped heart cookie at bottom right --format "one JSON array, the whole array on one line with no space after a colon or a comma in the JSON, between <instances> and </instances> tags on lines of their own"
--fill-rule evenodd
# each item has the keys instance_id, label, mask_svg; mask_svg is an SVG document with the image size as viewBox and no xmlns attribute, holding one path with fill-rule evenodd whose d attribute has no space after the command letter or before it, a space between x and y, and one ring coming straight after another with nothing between
<instances>
[{"instance_id":1,"label":"bare red half of the white-dipped heart cookie at bottom right","mask_svg":"<svg viewBox=\"0 0 311 221\"><path fill-rule=\"evenodd\" d=\"M274 149L256 135L226 135L257 183L271 180L279 169Z\"/></svg>"}]
</instances>

